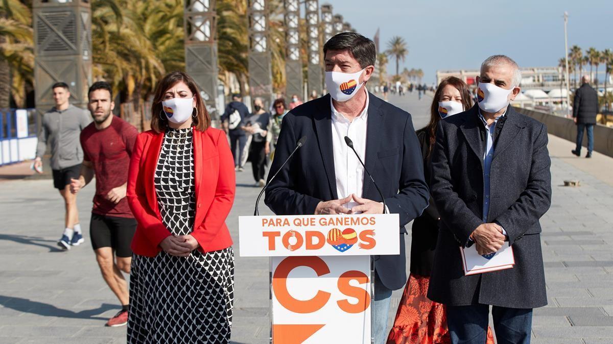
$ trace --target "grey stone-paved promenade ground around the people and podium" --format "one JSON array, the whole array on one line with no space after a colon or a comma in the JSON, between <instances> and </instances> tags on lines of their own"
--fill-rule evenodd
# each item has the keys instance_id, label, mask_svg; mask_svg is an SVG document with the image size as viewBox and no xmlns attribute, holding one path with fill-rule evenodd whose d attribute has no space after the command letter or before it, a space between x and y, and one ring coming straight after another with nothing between
<instances>
[{"instance_id":1,"label":"grey stone-paved promenade ground around the people and podium","mask_svg":"<svg viewBox=\"0 0 613 344\"><path fill-rule=\"evenodd\" d=\"M413 93L390 102L428 121L431 97ZM550 136L553 204L541 220L549 305L535 311L533 343L613 343L613 159L571 155L573 144ZM0 172L1 174L1 172ZM564 187L578 179L581 187ZM253 214L259 189L250 167L237 174L228 219L238 242L238 215ZM93 185L78 197L89 226ZM262 204L261 212L270 214ZM61 252L63 205L50 180L0 181L0 343L124 343L126 328L104 327L119 308L89 244ZM410 247L410 236L407 237ZM236 259L234 343L267 343L268 260ZM503 291L501 291L503 293ZM394 293L390 323L402 290Z\"/></svg>"}]
</instances>

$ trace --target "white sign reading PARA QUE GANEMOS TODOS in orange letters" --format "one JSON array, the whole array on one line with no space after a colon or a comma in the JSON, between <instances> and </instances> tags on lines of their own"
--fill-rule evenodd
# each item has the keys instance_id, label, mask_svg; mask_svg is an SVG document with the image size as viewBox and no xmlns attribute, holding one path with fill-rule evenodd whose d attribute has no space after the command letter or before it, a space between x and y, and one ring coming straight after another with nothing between
<instances>
[{"instance_id":1,"label":"white sign reading PARA QUE GANEMOS TODOS in orange letters","mask_svg":"<svg viewBox=\"0 0 613 344\"><path fill-rule=\"evenodd\" d=\"M400 253L398 214L241 216L240 256Z\"/></svg>"}]
</instances>

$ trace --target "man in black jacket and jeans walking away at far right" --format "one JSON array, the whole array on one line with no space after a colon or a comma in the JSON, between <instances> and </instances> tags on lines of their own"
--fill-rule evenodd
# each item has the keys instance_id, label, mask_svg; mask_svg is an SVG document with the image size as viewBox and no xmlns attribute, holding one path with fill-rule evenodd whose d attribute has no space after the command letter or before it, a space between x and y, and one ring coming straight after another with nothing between
<instances>
[{"instance_id":1,"label":"man in black jacket and jeans walking away at far right","mask_svg":"<svg viewBox=\"0 0 613 344\"><path fill-rule=\"evenodd\" d=\"M594 149L594 124L596 124L596 113L598 113L598 94L590 86L590 77L584 75L581 78L581 87L575 92L573 102L573 119L577 124L577 148L573 154L581 156L581 141L583 141L583 129L587 130L587 155L592 157Z\"/></svg>"}]
</instances>

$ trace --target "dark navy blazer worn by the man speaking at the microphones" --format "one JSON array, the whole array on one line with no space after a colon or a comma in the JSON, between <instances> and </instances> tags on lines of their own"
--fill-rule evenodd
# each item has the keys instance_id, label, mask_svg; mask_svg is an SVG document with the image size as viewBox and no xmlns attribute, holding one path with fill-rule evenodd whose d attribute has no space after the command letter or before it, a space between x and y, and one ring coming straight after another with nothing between
<instances>
[{"instance_id":1,"label":"dark navy blazer worn by the man speaking at the microphones","mask_svg":"<svg viewBox=\"0 0 613 344\"><path fill-rule=\"evenodd\" d=\"M374 256L373 260L383 285L397 290L406 283L405 225L421 215L428 205L429 193L411 115L373 94L369 97L364 163L381 188L389 211L400 215L400 255ZM305 145L266 190L264 202L278 215L314 214L320 201L339 198L332 153L330 95L304 103L285 115L269 181L302 136L307 136ZM362 197L381 201L367 176Z\"/></svg>"}]
</instances>

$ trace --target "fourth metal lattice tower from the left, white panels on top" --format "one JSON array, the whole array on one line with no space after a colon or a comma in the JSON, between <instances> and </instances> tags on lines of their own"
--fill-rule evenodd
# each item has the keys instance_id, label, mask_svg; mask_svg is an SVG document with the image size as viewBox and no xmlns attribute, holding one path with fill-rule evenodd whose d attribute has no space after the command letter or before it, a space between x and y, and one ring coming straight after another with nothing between
<instances>
[{"instance_id":1,"label":"fourth metal lattice tower from the left, white panels on top","mask_svg":"<svg viewBox=\"0 0 613 344\"><path fill-rule=\"evenodd\" d=\"M285 0L285 93L302 97L302 61L300 60L300 4L299 0Z\"/></svg>"}]
</instances>

